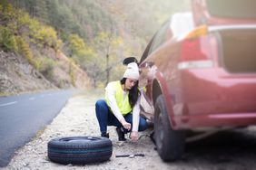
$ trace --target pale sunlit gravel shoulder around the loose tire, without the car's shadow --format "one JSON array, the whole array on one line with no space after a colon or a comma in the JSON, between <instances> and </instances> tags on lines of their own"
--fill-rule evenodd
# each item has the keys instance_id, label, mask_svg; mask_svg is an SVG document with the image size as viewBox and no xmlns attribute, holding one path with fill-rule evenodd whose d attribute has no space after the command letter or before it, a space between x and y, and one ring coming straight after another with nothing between
<instances>
[{"instance_id":1,"label":"pale sunlit gravel shoulder around the loose tire, without the car's shadow","mask_svg":"<svg viewBox=\"0 0 256 170\"><path fill-rule=\"evenodd\" d=\"M109 161L90 165L61 165L51 162L47 157L47 143L54 137L99 136L94 103L96 95L78 95L69 99L64 109L54 118L51 125L38 132L34 139L19 149L12 161L4 169L170 169L164 165L150 137L152 129L140 133L141 139L119 142L114 127L108 127L113 142L113 156ZM118 154L141 154L143 157L115 157Z\"/></svg>"}]
</instances>

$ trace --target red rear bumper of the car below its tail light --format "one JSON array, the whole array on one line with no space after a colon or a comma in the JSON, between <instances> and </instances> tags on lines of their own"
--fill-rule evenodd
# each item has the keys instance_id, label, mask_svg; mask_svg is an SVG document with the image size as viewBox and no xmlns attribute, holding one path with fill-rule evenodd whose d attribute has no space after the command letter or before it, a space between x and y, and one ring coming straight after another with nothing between
<instances>
[{"instance_id":1,"label":"red rear bumper of the car below its tail light","mask_svg":"<svg viewBox=\"0 0 256 170\"><path fill-rule=\"evenodd\" d=\"M231 75L222 69L185 70L181 75L182 92L172 101L174 128L256 124L256 75Z\"/></svg>"}]
</instances>

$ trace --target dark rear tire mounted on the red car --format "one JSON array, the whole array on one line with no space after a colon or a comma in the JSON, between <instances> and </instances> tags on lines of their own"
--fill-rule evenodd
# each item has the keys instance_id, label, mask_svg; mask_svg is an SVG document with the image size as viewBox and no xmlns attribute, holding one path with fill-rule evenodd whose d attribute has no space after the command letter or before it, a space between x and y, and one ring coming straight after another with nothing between
<instances>
[{"instance_id":1,"label":"dark rear tire mounted on the red car","mask_svg":"<svg viewBox=\"0 0 256 170\"><path fill-rule=\"evenodd\" d=\"M162 95L156 99L154 109L154 137L159 156L165 162L181 159L185 146L184 133L172 129Z\"/></svg>"}]
</instances>

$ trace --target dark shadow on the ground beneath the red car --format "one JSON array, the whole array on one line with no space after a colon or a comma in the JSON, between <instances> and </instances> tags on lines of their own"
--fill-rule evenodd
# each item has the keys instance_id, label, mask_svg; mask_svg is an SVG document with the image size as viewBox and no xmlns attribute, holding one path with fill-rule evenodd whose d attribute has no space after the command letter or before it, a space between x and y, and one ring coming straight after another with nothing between
<instances>
[{"instance_id":1,"label":"dark shadow on the ground beneath the red car","mask_svg":"<svg viewBox=\"0 0 256 170\"><path fill-rule=\"evenodd\" d=\"M247 128L244 128L222 131L211 137L189 143L182 163L232 164L239 165L236 166L237 169L251 169L255 167L255 160L256 134L250 133ZM221 169L227 167L229 166L224 166Z\"/></svg>"}]
</instances>

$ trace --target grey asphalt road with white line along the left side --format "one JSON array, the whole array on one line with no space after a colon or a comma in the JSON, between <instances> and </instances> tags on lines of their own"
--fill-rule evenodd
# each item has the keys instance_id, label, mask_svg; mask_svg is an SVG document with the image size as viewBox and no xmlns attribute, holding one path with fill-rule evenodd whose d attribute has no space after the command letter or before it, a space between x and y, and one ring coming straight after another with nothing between
<instances>
[{"instance_id":1,"label":"grey asphalt road with white line along the left side","mask_svg":"<svg viewBox=\"0 0 256 170\"><path fill-rule=\"evenodd\" d=\"M0 167L8 165L15 150L51 123L72 90L0 97Z\"/></svg>"}]
</instances>

